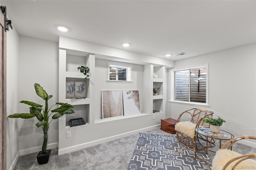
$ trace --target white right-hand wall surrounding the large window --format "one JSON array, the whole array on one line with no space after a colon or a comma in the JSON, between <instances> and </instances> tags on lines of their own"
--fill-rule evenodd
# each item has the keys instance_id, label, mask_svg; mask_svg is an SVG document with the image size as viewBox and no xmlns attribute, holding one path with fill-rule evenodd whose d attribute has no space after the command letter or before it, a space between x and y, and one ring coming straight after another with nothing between
<instances>
[{"instance_id":1,"label":"white right-hand wall surrounding the large window","mask_svg":"<svg viewBox=\"0 0 256 170\"><path fill-rule=\"evenodd\" d=\"M205 63L209 63L210 107L199 108L226 120L221 129L234 136L256 135L256 44L176 61L175 68ZM197 107L168 103L166 112L177 119L182 111Z\"/></svg>"}]
</instances>

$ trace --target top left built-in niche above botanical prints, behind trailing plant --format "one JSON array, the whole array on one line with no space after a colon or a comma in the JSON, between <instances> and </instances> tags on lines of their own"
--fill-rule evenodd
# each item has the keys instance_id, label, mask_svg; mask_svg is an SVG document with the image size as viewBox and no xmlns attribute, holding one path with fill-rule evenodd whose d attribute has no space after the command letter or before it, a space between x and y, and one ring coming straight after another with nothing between
<instances>
[{"instance_id":1,"label":"top left built-in niche above botanical prints, behind trailing plant","mask_svg":"<svg viewBox=\"0 0 256 170\"><path fill-rule=\"evenodd\" d=\"M90 68L88 65L88 58L89 56L87 54L84 54L83 56L66 54L66 71L80 72L77 67L81 65L86 65Z\"/></svg>"}]
</instances>

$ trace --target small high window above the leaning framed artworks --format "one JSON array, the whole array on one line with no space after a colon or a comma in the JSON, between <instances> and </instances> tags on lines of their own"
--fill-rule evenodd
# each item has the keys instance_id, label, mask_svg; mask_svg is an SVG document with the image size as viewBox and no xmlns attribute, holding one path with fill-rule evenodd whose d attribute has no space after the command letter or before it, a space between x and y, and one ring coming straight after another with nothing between
<instances>
[{"instance_id":1,"label":"small high window above the leaning framed artworks","mask_svg":"<svg viewBox=\"0 0 256 170\"><path fill-rule=\"evenodd\" d=\"M108 63L108 81L131 82L132 66Z\"/></svg>"}]
</instances>

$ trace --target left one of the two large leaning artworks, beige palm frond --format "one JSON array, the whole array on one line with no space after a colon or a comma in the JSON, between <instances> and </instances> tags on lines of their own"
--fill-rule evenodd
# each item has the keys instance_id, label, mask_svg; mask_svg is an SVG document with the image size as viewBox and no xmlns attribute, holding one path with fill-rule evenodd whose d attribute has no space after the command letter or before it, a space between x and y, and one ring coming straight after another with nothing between
<instances>
[{"instance_id":1,"label":"left one of the two large leaning artworks, beige palm frond","mask_svg":"<svg viewBox=\"0 0 256 170\"><path fill-rule=\"evenodd\" d=\"M102 90L102 119L123 115L122 91Z\"/></svg>"}]
</instances>

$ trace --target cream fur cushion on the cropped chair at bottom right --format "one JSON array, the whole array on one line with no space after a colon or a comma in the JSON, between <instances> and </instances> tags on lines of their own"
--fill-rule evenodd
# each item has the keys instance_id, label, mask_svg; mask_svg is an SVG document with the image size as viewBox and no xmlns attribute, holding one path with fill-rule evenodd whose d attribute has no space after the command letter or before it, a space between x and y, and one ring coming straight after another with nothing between
<instances>
[{"instance_id":1,"label":"cream fur cushion on the cropped chair at bottom right","mask_svg":"<svg viewBox=\"0 0 256 170\"><path fill-rule=\"evenodd\" d=\"M232 158L235 158L237 156L241 156L241 154L238 154L237 152L234 152L232 150L228 149L220 149L216 152L213 160L212 160L212 170L221 170L223 166ZM232 162L226 170L231 170L233 168L232 165L234 165L238 160ZM238 164L239 169L256 169L256 161L253 159L246 159Z\"/></svg>"}]
</instances>

